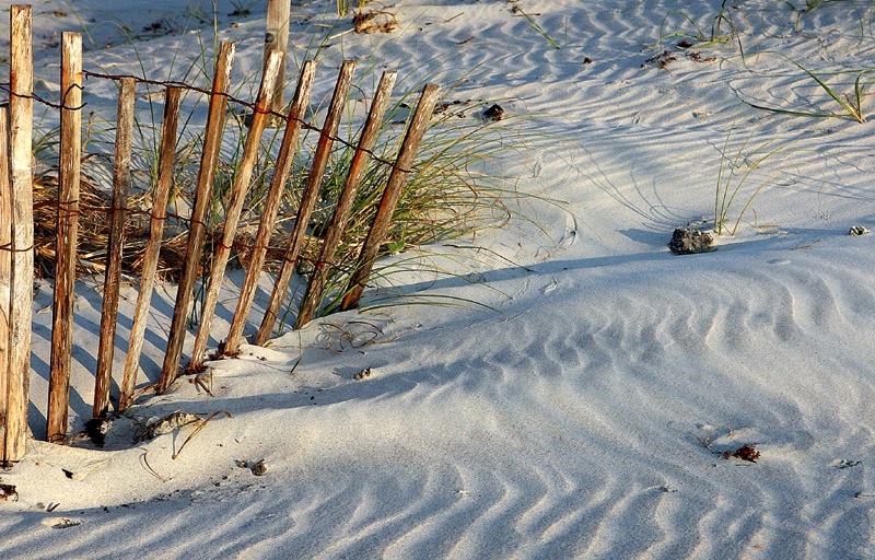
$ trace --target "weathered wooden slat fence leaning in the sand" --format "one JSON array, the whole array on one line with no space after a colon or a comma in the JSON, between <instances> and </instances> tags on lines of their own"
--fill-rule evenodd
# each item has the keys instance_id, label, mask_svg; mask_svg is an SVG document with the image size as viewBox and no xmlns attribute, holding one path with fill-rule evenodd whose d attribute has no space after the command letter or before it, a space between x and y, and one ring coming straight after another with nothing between
<instances>
[{"instance_id":1,"label":"weathered wooden slat fence leaning in the sand","mask_svg":"<svg viewBox=\"0 0 875 560\"><path fill-rule=\"evenodd\" d=\"M0 107L0 465L21 459L25 452L27 431L27 405L31 362L31 331L33 320L34 273L34 222L33 222L33 47L31 31L31 7L11 8L11 60L8 106ZM180 372L186 318L194 304L194 289L198 276L207 236L207 213L213 188L219 150L225 126L225 108L234 59L234 45L222 43L219 48L214 77L209 92L209 114L203 136L200 167L198 172L195 202L190 217L185 266L182 270L176 304L173 312L167 349L155 389L166 388ZM340 68L334 95L312 158L312 165L302 194L294 228L288 240L280 271L261 319L255 343L264 345L271 336L280 307L285 299L289 281L300 257L307 225L319 195L328 164L330 150L337 140L343 107L352 83L354 61ZM258 277L265 265L268 243L275 230L283 191L289 182L295 151L303 127L312 128L303 120L314 82L316 65L307 61L301 68L298 86L288 116L278 115L276 107L283 106L279 80L284 71L284 55L272 51L265 57L265 70L254 114L249 125L243 153L238 162L234 183L228 198L224 224L212 258L209 281L206 287L201 320L191 350L190 371L202 369L210 324L217 307L219 290L231 257L237 223L244 208L253 178L253 171L268 119L282 117L285 120L282 143L271 184L264 203L249 266L241 291L228 340L226 354L235 354L242 341L243 330L249 319ZM70 369L72 363L72 318L75 289L77 229L80 211L80 162L82 159L82 38L77 33L65 33L61 42L61 91L60 112L61 139L58 177L58 218L55 293L52 304L51 359L49 372L49 398L47 411L47 439L54 443L67 440L70 393ZM112 205L108 209L109 237L107 266L105 270L104 300L100 326L100 348L95 372L95 418L109 412L109 387L115 350L116 315L121 276L121 254L127 198L131 184L131 145L133 130L133 101L138 80L132 77L92 77L116 79L119 82L118 115L116 127L115 160L113 173ZM295 322L300 328L312 319L316 312L326 275L332 266L337 248L349 220L352 202L364 176L369 161L373 159L377 130L385 116L389 96L395 84L395 73L383 74L371 103L365 124L347 174L346 184L336 202L334 214L326 229L320 253L310 278L301 308ZM182 92L189 86L167 84L165 89L164 116L159 151L159 172L152 188L149 240L145 244L143 265L131 327L126 365L120 384L118 409L129 407L133 400L140 353L145 334L145 319L150 310L155 272L158 268L164 222L167 218L167 199L173 183L174 155L177 137ZM190 88L195 89L195 88ZM374 223L366 236L353 273L349 280L347 295L341 308L358 306L365 282L371 273L377 249L389 226L398 198L410 173L413 156L433 113L439 88L425 85L410 118L401 141L401 148L376 211Z\"/></svg>"}]
</instances>

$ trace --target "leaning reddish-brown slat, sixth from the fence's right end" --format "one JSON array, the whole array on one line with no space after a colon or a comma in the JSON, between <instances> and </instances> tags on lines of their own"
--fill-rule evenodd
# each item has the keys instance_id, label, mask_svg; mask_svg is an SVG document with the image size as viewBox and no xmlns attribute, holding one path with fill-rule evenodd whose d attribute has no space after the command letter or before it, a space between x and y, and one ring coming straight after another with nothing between
<instances>
[{"instance_id":1,"label":"leaning reddish-brown slat, sixth from the fence's right end","mask_svg":"<svg viewBox=\"0 0 875 560\"><path fill-rule=\"evenodd\" d=\"M215 162L222 147L222 130L225 124L225 106L228 105L228 88L231 81L231 67L234 61L234 45L222 43L215 61L215 75L210 95L210 109L207 117L207 131L203 139L203 153L200 160L198 185L195 191L195 207L191 209L191 226L188 232L186 259L179 287L176 292L176 306L167 339L167 352L161 369L158 390L167 390L179 373L179 361L185 341L185 323L191 311L195 281L197 280L203 238L207 235L207 211L210 208L210 191L215 179Z\"/></svg>"}]
</instances>

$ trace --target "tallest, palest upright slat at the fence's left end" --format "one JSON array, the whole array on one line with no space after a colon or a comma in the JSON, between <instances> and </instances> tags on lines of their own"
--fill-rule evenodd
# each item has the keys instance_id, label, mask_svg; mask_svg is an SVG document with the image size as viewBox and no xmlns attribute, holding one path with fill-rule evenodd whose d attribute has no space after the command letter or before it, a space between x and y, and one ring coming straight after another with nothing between
<instances>
[{"instance_id":1,"label":"tallest, palest upright slat at the fence's left end","mask_svg":"<svg viewBox=\"0 0 875 560\"><path fill-rule=\"evenodd\" d=\"M33 329L34 217L33 34L31 7L10 10L9 177L12 191L12 273L10 275L9 371L2 463L21 459L27 436ZM2 154L5 155L5 154Z\"/></svg>"}]
</instances>

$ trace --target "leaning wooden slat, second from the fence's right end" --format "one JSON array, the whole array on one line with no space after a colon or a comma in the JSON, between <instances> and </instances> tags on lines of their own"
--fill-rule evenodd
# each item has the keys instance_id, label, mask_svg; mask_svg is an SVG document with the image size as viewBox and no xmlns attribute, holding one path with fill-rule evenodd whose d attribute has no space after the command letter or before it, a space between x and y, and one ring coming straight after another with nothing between
<instances>
[{"instance_id":1,"label":"leaning wooden slat, second from the fence's right end","mask_svg":"<svg viewBox=\"0 0 875 560\"><path fill-rule=\"evenodd\" d=\"M395 86L396 75L395 72L384 72L380 80L374 101L371 104L371 110L368 114L368 120L364 124L364 130L362 131L359 145L355 148L355 154L352 156L352 162L350 163L347 183L343 185L343 190L340 192L335 213L331 217L331 221L328 223L319 258L316 260L313 276L310 278L306 292L304 292L304 300L301 303L301 311L298 313L295 328L301 328L310 323L316 311L316 306L319 304L322 291L328 278L328 271L335 259L335 253L340 245L340 240L343 237L343 231L346 230L347 220L349 220L349 214L352 210L355 192L359 189L362 177L364 177L364 171L368 168L368 162L371 158L371 151L374 149L374 143L376 142L381 121L386 114L389 95L392 94L392 89Z\"/></svg>"}]
</instances>

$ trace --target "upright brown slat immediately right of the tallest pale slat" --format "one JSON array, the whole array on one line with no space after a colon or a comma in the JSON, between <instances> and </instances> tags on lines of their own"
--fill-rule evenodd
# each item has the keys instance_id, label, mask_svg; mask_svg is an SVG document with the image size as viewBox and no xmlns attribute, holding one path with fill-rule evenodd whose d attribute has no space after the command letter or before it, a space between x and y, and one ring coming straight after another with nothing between
<instances>
[{"instance_id":1,"label":"upright brown slat immediately right of the tallest pale slat","mask_svg":"<svg viewBox=\"0 0 875 560\"><path fill-rule=\"evenodd\" d=\"M48 397L48 441L63 443L70 399L73 348L79 173L82 152L82 35L61 37L61 139L58 173L58 229L55 264L55 304Z\"/></svg>"}]
</instances>

